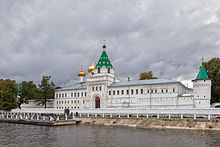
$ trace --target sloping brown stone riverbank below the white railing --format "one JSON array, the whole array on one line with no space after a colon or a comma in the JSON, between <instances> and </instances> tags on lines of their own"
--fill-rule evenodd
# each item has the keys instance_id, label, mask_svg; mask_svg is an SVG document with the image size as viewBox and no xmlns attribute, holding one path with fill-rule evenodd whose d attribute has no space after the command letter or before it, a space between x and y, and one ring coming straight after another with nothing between
<instances>
[{"instance_id":1,"label":"sloping brown stone riverbank below the white railing","mask_svg":"<svg viewBox=\"0 0 220 147\"><path fill-rule=\"evenodd\" d=\"M138 118L75 118L81 125L120 126L156 129L220 131L220 120L138 119Z\"/></svg>"}]
</instances>

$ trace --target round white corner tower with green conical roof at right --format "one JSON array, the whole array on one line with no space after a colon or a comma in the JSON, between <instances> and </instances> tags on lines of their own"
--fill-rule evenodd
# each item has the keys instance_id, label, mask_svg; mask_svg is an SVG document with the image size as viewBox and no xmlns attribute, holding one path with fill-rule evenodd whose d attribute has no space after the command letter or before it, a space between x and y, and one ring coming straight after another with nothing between
<instances>
[{"instance_id":1,"label":"round white corner tower with green conical roof at right","mask_svg":"<svg viewBox=\"0 0 220 147\"><path fill-rule=\"evenodd\" d=\"M194 108L210 108L211 101L211 79L209 79L203 66L193 82L193 106Z\"/></svg>"}]
</instances>

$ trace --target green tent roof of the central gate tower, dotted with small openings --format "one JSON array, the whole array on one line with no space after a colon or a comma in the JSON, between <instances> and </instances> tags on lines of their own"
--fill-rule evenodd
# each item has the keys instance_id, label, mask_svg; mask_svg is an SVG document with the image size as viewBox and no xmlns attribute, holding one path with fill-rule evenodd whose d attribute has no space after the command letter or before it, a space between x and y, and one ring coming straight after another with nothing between
<instances>
[{"instance_id":1,"label":"green tent roof of the central gate tower, dotted with small openings","mask_svg":"<svg viewBox=\"0 0 220 147\"><path fill-rule=\"evenodd\" d=\"M99 61L98 61L98 63L96 64L96 67L95 67L95 68L97 69L98 66L99 66L100 68L102 68L102 66L105 66L106 68L108 68L108 67L111 67L111 68L112 68L111 61L109 60L108 55L107 55L107 53L106 53L105 50L102 51L102 55L101 55L101 57L99 58Z\"/></svg>"}]
</instances>

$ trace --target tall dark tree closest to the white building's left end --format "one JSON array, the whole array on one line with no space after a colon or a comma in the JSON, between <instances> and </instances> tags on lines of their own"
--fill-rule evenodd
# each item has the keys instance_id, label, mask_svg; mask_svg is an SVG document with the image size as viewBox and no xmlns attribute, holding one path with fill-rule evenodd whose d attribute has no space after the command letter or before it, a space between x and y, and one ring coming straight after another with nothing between
<instances>
[{"instance_id":1,"label":"tall dark tree closest to the white building's left end","mask_svg":"<svg viewBox=\"0 0 220 147\"><path fill-rule=\"evenodd\" d=\"M44 105L47 108L48 99L54 98L55 84L50 82L50 76L43 76L41 83L39 84L38 93L36 101L39 105Z\"/></svg>"}]
</instances>

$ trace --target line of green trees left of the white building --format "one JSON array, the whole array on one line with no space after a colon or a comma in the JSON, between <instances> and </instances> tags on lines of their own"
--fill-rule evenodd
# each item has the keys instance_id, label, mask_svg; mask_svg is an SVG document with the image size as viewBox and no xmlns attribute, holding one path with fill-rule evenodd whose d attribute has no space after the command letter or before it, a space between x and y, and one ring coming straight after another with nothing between
<instances>
[{"instance_id":1,"label":"line of green trees left of the white building","mask_svg":"<svg viewBox=\"0 0 220 147\"><path fill-rule=\"evenodd\" d=\"M50 76L43 76L38 86L33 81L22 81L0 79L0 110L11 110L21 108L21 104L28 100L35 100L37 105L44 105L48 99L54 98L55 84Z\"/></svg>"}]
</instances>

